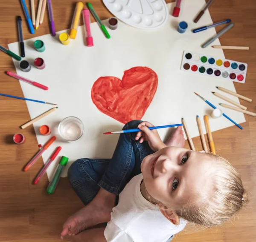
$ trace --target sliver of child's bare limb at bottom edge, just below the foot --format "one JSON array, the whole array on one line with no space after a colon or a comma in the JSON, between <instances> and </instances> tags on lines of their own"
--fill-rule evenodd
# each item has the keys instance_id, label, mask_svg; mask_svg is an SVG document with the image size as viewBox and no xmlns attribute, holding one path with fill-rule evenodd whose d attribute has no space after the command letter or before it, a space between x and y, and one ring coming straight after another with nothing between
<instances>
[{"instance_id":1,"label":"sliver of child's bare limb at bottom edge, just below the foot","mask_svg":"<svg viewBox=\"0 0 256 242\"><path fill-rule=\"evenodd\" d=\"M104 230L105 228L88 229L75 236L70 236L70 239L73 242L107 242Z\"/></svg>"}]
</instances>

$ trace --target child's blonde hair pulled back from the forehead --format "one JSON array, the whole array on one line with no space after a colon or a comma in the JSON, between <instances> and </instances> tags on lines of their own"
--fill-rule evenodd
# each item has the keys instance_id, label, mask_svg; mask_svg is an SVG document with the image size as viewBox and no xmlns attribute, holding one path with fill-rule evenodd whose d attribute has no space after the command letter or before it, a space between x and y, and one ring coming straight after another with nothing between
<instances>
[{"instance_id":1,"label":"child's blonde hair pulled back from the forehead","mask_svg":"<svg viewBox=\"0 0 256 242\"><path fill-rule=\"evenodd\" d=\"M220 225L238 213L248 202L247 193L235 168L222 157L205 154L215 162L210 196L199 202L186 204L175 210L183 219L195 224L210 227Z\"/></svg>"}]
</instances>

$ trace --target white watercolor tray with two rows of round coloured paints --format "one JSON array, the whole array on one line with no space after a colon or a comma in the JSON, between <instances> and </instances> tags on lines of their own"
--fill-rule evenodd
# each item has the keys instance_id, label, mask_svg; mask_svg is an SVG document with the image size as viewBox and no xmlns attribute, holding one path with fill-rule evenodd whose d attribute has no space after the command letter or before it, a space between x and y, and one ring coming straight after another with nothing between
<instances>
[{"instance_id":1,"label":"white watercolor tray with two rows of round coloured paints","mask_svg":"<svg viewBox=\"0 0 256 242\"><path fill-rule=\"evenodd\" d=\"M192 51L183 52L181 63L182 71L190 71L237 83L245 83L247 68L246 63L207 56Z\"/></svg>"}]
</instances>

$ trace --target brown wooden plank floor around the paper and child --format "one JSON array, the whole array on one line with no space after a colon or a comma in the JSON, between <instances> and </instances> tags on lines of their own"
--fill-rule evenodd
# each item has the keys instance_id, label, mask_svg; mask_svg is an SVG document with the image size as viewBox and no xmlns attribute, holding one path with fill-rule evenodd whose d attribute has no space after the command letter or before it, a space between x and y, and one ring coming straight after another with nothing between
<instances>
[{"instance_id":1,"label":"brown wooden plank floor around the paper and child","mask_svg":"<svg viewBox=\"0 0 256 242\"><path fill-rule=\"evenodd\" d=\"M29 0L26 0L29 3ZM35 0L37 6L37 0ZM56 31L70 28L74 0L53 0ZM102 19L111 17L99 0L91 0ZM29 6L29 4L28 4ZM210 7L213 22L231 18L235 27L220 41L222 45L250 46L250 51L224 51L227 59L248 63L245 84L235 83L240 94L254 98L252 103L241 100L248 110L256 112L256 3L254 0L215 1ZM0 1L0 44L17 41L15 16L21 15L18 0ZM31 38L24 28L24 39ZM34 36L49 33L48 18ZM33 36L33 37L34 37ZM20 84L10 80L4 71L15 71L12 59L0 53L0 93L23 96ZM72 191L67 179L61 179L55 194L49 196L45 190L47 178L38 185L32 179L43 165L40 159L31 170L22 172L21 168L38 150L33 127L23 130L26 143L15 145L13 134L20 132L20 124L29 120L29 112L24 101L0 97L0 241L15 242L56 242L62 224L68 216L82 207ZM256 118L246 116L244 130L233 126L213 133L218 154L229 159L239 170L244 184L251 194L250 205L241 211L239 219L219 228L195 233L182 232L175 241L182 242L253 242L256 241ZM201 150L200 140L193 139ZM254 218L254 219L253 219Z\"/></svg>"}]
</instances>

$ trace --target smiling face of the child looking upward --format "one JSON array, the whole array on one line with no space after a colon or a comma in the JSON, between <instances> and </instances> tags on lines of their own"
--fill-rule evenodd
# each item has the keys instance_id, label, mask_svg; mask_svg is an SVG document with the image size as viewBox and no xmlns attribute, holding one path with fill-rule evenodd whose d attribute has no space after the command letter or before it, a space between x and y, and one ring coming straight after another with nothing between
<instances>
[{"instance_id":1,"label":"smiling face of the child looking upward","mask_svg":"<svg viewBox=\"0 0 256 242\"><path fill-rule=\"evenodd\" d=\"M148 193L169 208L209 195L214 160L204 153L166 147L143 159L141 171Z\"/></svg>"}]
</instances>

